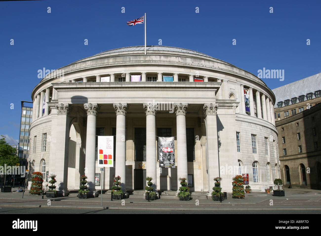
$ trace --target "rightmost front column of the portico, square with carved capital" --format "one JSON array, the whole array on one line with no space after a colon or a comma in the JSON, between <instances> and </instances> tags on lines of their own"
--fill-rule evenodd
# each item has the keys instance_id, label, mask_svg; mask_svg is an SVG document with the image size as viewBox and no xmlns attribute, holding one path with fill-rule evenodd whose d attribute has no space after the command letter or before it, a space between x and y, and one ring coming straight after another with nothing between
<instances>
[{"instance_id":1,"label":"rightmost front column of the portico, square with carved capital","mask_svg":"<svg viewBox=\"0 0 321 236\"><path fill-rule=\"evenodd\" d=\"M216 127L216 112L217 104L204 104L205 113L205 129L207 139L207 178L208 178L208 192L206 194L209 199L212 197L212 188L214 186L214 178L219 176L219 158L217 145L217 127ZM205 190L205 189L204 189Z\"/></svg>"}]
</instances>

